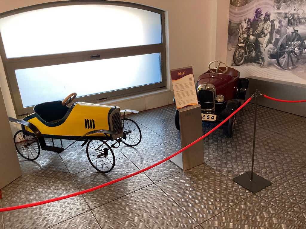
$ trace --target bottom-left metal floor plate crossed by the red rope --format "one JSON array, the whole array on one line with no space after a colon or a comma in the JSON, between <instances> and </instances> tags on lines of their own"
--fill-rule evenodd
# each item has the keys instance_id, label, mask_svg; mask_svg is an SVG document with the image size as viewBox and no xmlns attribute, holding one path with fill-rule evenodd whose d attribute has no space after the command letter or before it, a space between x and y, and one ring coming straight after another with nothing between
<instances>
[{"instance_id":1,"label":"bottom-left metal floor plate crossed by the red rope","mask_svg":"<svg viewBox=\"0 0 306 229\"><path fill-rule=\"evenodd\" d=\"M41 185L14 195L3 195L3 207L43 201L79 191L70 176ZM88 211L83 196L76 196L58 202L32 208L3 212L6 229L47 228Z\"/></svg>"}]
</instances>

